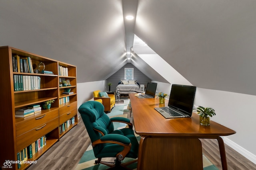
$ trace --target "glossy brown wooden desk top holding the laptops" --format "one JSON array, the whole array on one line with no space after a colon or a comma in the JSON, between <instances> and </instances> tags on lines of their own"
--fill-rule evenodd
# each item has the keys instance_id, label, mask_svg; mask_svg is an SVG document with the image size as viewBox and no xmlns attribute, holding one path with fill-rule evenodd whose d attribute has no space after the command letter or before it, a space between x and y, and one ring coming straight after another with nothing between
<instances>
[{"instance_id":1,"label":"glossy brown wooden desk top holding the laptops","mask_svg":"<svg viewBox=\"0 0 256 170\"><path fill-rule=\"evenodd\" d=\"M165 119L154 107L168 106L159 104L156 98L137 98L130 94L132 113L134 117L135 132L139 135L218 138L235 134L236 131L210 121L210 126L199 124L199 115L193 113L192 117Z\"/></svg>"}]
</instances>

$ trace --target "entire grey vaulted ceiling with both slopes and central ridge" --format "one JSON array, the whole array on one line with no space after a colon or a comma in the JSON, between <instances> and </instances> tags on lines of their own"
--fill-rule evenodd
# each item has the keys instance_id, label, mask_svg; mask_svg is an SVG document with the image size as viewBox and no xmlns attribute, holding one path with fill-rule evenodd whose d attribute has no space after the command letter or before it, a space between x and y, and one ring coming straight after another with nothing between
<instances>
[{"instance_id":1,"label":"entire grey vaulted ceiling with both slopes and central ridge","mask_svg":"<svg viewBox=\"0 0 256 170\"><path fill-rule=\"evenodd\" d=\"M152 80L176 83L179 74L200 88L256 95L255 9L255 0L5 0L0 46L76 65L78 83L130 62ZM169 74L148 62L152 54Z\"/></svg>"}]
</instances>

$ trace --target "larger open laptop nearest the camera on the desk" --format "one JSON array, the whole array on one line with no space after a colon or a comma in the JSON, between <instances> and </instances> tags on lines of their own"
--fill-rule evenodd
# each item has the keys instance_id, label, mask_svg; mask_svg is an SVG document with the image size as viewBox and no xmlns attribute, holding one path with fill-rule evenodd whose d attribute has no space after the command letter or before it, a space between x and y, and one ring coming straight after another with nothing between
<instances>
[{"instance_id":1,"label":"larger open laptop nearest the camera on the desk","mask_svg":"<svg viewBox=\"0 0 256 170\"><path fill-rule=\"evenodd\" d=\"M168 107L156 107L154 109L166 119L191 117L195 94L196 86L172 84Z\"/></svg>"}]
</instances>

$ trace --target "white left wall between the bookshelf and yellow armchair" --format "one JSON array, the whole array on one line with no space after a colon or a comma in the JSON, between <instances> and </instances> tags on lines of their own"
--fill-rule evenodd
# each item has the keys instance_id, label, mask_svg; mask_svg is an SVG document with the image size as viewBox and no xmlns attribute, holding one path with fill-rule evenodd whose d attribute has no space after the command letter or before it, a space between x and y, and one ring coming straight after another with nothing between
<instances>
[{"instance_id":1,"label":"white left wall between the bookshelf and yellow armchair","mask_svg":"<svg viewBox=\"0 0 256 170\"><path fill-rule=\"evenodd\" d=\"M106 91L106 80L96 82L85 82L77 84L77 108L84 102L93 98L92 92L95 90Z\"/></svg>"}]
</instances>

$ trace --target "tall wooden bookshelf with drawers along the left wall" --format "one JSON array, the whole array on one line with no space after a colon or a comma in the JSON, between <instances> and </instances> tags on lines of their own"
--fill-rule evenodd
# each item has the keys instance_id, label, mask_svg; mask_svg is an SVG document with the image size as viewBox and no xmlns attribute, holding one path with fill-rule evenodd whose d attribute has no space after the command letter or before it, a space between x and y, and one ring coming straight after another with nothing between
<instances>
[{"instance_id":1,"label":"tall wooden bookshelf with drawers along the left wall","mask_svg":"<svg viewBox=\"0 0 256 170\"><path fill-rule=\"evenodd\" d=\"M19 56L19 59L22 59L20 62L26 62L30 59L30 68L34 72L25 72L25 70L24 72L17 72L17 65L15 66L15 63L13 63L13 56L16 55ZM35 161L59 141L64 134L77 125L76 66L9 46L0 47L0 57L2 61L0 66L2 72L0 78L2 84L0 168L24 170L30 164L21 164L18 168L18 164L13 163L6 167L6 161L17 161L18 152L34 144L41 137L45 137L46 145L34 153L32 158L28 158L28 161ZM52 74L36 72L37 66L41 62L45 65L44 70L51 71ZM26 64L24 66L26 67ZM61 75L60 67L64 68L65 75ZM30 76L34 80L33 87L23 90L22 88L21 90L17 89L16 83L18 82L14 80L14 76L16 78L20 76L19 80L21 78L25 80L26 76ZM70 80L71 86L59 87L61 80ZM67 88L70 88L73 94L62 94ZM48 100L55 100L50 109L42 108L40 112L33 115L15 117L15 111L18 109L27 108L32 104L38 104L42 107L43 102ZM60 103L60 101L65 101L65 103ZM65 131L62 133L60 133L61 126L65 127Z\"/></svg>"}]
</instances>

